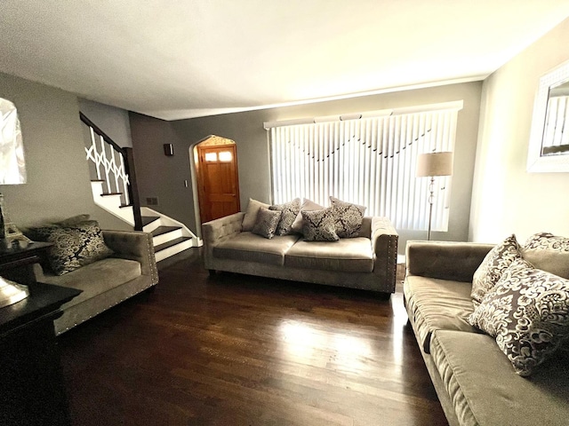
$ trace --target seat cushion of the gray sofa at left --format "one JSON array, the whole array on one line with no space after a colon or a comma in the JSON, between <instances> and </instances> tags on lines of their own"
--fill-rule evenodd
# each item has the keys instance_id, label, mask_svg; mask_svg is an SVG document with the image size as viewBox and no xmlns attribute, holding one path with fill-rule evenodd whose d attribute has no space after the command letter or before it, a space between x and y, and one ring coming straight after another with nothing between
<instances>
[{"instance_id":1,"label":"seat cushion of the gray sofa at left","mask_svg":"<svg viewBox=\"0 0 569 426\"><path fill-rule=\"evenodd\" d=\"M68 307L104 293L111 288L116 288L125 282L134 280L140 277L140 274L139 262L108 257L98 262L87 264L65 275L57 276L44 273L44 276L38 278L47 284L83 290L83 293L74 297L68 304L65 304L65 307Z\"/></svg>"}]
</instances>

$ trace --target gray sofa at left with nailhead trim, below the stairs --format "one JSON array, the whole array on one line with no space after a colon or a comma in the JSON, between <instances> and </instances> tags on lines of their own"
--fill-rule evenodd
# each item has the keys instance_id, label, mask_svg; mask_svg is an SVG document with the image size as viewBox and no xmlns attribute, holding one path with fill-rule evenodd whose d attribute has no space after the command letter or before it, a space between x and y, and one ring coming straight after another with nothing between
<instances>
[{"instance_id":1,"label":"gray sofa at left with nailhead trim, below the stairs","mask_svg":"<svg viewBox=\"0 0 569 426\"><path fill-rule=\"evenodd\" d=\"M53 321L56 335L158 282L154 246L149 233L102 233L105 244L115 252L111 257L60 276L44 272L40 264L34 265L37 281L83 290L79 296L61 306L63 315Z\"/></svg>"}]
</instances>

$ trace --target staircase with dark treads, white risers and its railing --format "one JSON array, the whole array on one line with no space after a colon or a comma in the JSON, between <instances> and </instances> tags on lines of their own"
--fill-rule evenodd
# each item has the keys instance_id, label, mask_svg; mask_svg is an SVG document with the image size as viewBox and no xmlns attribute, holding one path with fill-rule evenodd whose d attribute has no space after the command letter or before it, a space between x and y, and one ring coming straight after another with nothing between
<instances>
[{"instance_id":1,"label":"staircase with dark treads, white risers and its railing","mask_svg":"<svg viewBox=\"0 0 569 426\"><path fill-rule=\"evenodd\" d=\"M140 207L132 148L117 146L84 114L80 116L91 135L85 153L93 177L91 188L95 204L134 229L151 233L158 266L188 248L202 246L201 239L186 225L156 210Z\"/></svg>"}]
</instances>

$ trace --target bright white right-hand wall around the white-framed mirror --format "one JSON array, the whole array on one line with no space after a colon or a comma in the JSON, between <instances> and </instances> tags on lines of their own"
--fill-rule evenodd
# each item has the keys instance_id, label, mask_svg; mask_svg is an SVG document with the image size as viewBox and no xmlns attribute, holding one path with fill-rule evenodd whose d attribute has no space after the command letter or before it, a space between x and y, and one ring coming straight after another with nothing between
<instances>
[{"instance_id":1,"label":"bright white right-hand wall around the white-framed mirror","mask_svg":"<svg viewBox=\"0 0 569 426\"><path fill-rule=\"evenodd\" d=\"M569 59L569 19L488 77L483 86L469 240L516 233L569 236L569 173L527 173L533 99L541 75Z\"/></svg>"}]
</instances>

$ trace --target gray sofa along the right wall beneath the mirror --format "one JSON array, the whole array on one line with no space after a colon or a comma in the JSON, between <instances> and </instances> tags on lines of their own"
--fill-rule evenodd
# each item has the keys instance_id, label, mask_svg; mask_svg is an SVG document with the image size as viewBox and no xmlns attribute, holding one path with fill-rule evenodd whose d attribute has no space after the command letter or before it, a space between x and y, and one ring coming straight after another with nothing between
<instances>
[{"instance_id":1,"label":"gray sofa along the right wall beneath the mirror","mask_svg":"<svg viewBox=\"0 0 569 426\"><path fill-rule=\"evenodd\" d=\"M493 245L409 241L405 307L449 424L569 424L569 352L531 378L469 325L474 272Z\"/></svg>"}]
</instances>

